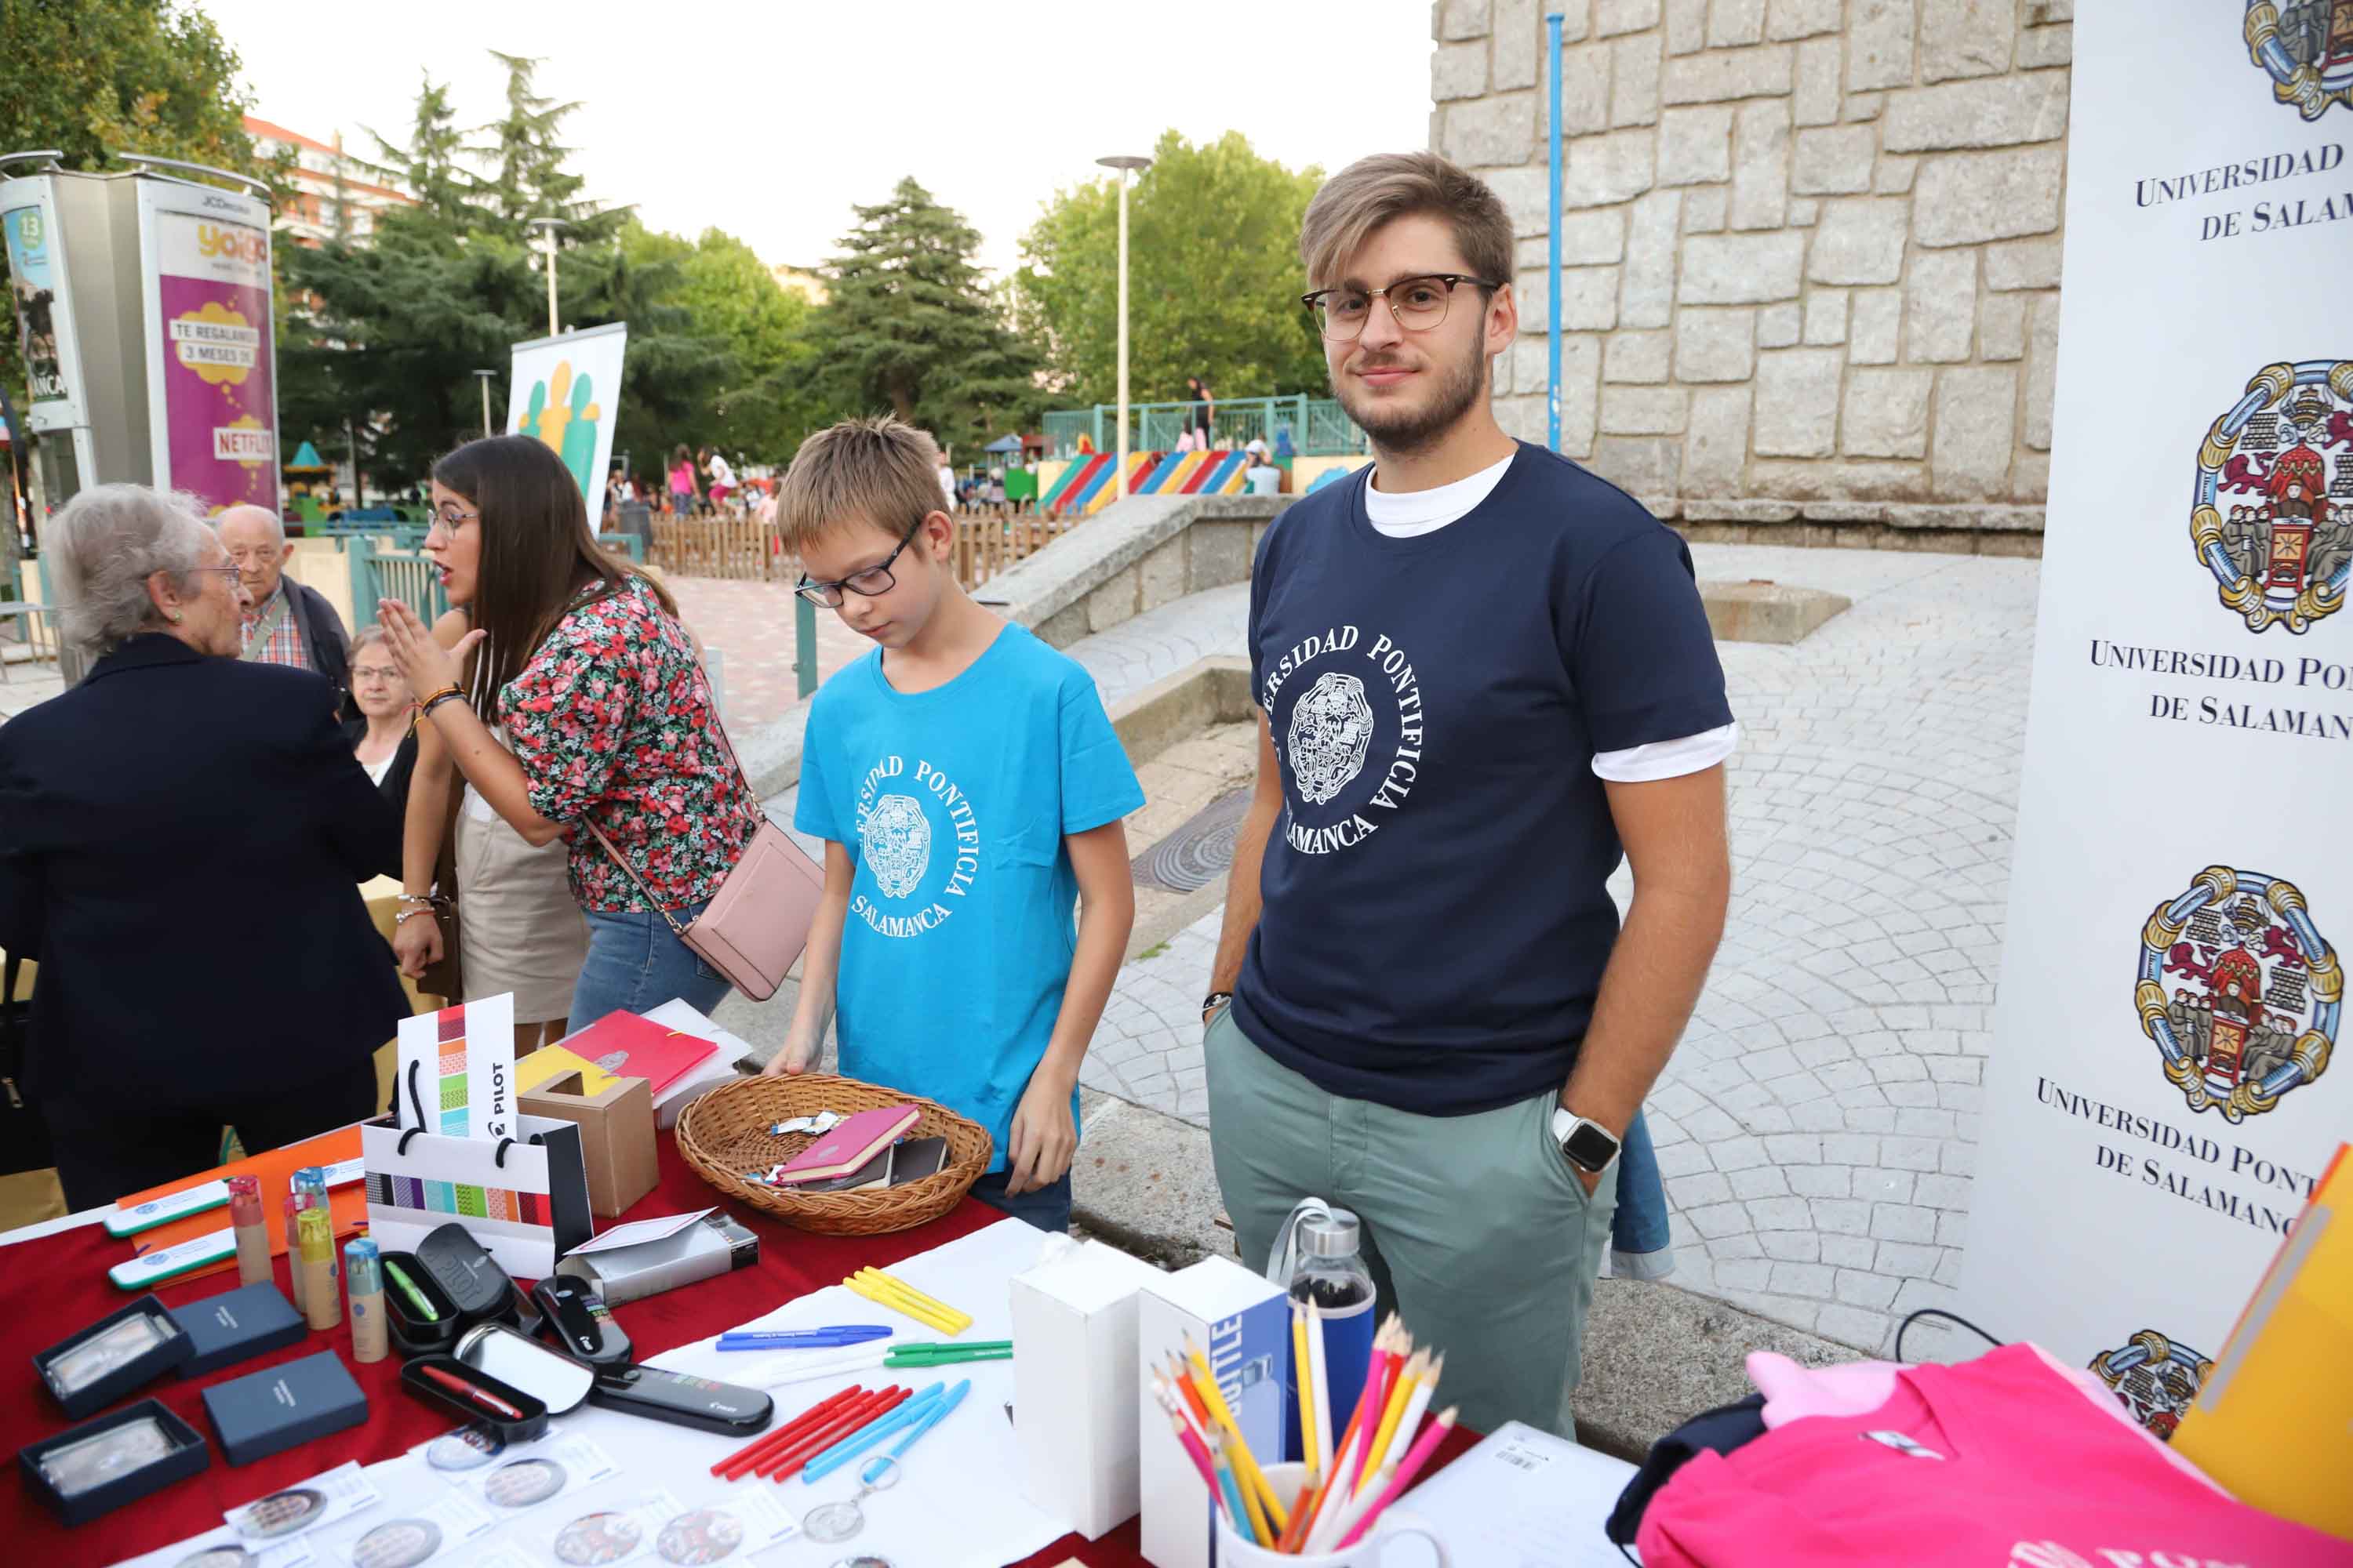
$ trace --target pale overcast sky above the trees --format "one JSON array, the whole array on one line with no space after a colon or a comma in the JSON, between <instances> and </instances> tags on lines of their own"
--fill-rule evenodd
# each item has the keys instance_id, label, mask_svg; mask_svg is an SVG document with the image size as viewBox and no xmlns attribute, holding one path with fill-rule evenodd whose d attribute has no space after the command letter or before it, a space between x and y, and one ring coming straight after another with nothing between
<instances>
[{"instance_id":1,"label":"pale overcast sky above the trees","mask_svg":"<svg viewBox=\"0 0 2353 1568\"><path fill-rule=\"evenodd\" d=\"M1104 153L1176 127L1228 129L1327 172L1428 141L1428 0L198 0L245 63L254 113L369 150L405 139L421 71L461 125L492 120L487 49L546 56L586 195L654 228L718 226L772 263L814 266L901 174L981 230L981 263Z\"/></svg>"}]
</instances>

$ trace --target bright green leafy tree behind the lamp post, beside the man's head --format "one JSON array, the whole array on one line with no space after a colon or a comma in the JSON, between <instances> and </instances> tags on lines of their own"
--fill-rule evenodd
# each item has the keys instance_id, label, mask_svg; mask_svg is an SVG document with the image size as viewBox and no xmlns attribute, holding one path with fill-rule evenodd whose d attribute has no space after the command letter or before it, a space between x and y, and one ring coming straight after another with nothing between
<instances>
[{"instance_id":1,"label":"bright green leafy tree behind the lamp post, beside the man's head","mask_svg":"<svg viewBox=\"0 0 2353 1568\"><path fill-rule=\"evenodd\" d=\"M1191 143L1162 132L1127 190L1127 374L1136 402L1186 397L1200 376L1226 397L1325 386L1299 306L1299 219L1322 169L1259 158L1240 132ZM1059 190L1021 240L1014 317L1064 402L1118 395L1120 188Z\"/></svg>"}]
</instances>

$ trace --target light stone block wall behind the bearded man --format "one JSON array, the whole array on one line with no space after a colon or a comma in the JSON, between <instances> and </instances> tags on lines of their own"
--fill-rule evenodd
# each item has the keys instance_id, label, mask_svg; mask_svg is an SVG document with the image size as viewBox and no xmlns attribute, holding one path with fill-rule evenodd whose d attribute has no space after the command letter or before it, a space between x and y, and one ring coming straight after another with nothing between
<instances>
[{"instance_id":1,"label":"light stone block wall behind the bearded man","mask_svg":"<svg viewBox=\"0 0 2353 1568\"><path fill-rule=\"evenodd\" d=\"M1438 0L1431 148L1511 207L1537 442L1546 9L1562 451L1699 538L2035 552L2073 0Z\"/></svg>"}]
</instances>

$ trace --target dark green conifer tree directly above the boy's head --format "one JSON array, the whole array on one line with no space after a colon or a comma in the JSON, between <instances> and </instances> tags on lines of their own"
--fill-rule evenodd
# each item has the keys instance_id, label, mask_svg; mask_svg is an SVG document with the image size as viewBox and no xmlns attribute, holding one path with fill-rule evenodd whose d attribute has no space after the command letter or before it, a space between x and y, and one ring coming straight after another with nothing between
<instances>
[{"instance_id":1,"label":"dark green conifer tree directly above the boy's head","mask_svg":"<svg viewBox=\"0 0 2353 1568\"><path fill-rule=\"evenodd\" d=\"M854 212L812 322L838 400L887 409L948 444L988 440L1035 414L1035 353L988 296L972 263L981 237L962 214L913 176L887 202Z\"/></svg>"}]
</instances>

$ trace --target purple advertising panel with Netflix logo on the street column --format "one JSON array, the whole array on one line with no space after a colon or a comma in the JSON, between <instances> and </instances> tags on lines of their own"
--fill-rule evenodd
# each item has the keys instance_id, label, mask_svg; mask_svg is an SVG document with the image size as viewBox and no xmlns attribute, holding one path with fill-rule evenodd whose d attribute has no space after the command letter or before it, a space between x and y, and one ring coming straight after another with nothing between
<instances>
[{"instance_id":1,"label":"purple advertising panel with Netflix logo on the street column","mask_svg":"<svg viewBox=\"0 0 2353 1568\"><path fill-rule=\"evenodd\" d=\"M155 484L278 510L268 205L141 181L139 249Z\"/></svg>"}]
</instances>

